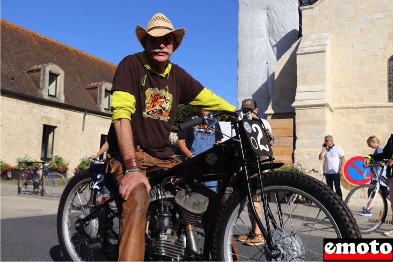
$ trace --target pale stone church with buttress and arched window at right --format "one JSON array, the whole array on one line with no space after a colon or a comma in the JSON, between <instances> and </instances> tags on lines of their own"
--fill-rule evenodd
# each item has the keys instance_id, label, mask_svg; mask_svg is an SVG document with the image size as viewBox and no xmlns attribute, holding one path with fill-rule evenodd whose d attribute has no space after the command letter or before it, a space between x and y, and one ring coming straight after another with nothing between
<instances>
[{"instance_id":1,"label":"pale stone church with buttress and arched window at right","mask_svg":"<svg viewBox=\"0 0 393 262\"><path fill-rule=\"evenodd\" d=\"M349 159L372 152L369 136L384 146L393 133L393 2L318 0L300 9L303 36L275 65L265 114L272 129L274 119L293 120L294 163L320 170L324 136Z\"/></svg>"}]
</instances>

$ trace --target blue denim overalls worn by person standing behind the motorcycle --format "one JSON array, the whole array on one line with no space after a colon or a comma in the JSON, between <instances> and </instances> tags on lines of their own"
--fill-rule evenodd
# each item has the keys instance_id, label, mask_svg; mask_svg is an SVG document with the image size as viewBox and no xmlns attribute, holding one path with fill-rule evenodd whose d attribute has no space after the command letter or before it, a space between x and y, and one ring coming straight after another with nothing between
<instances>
[{"instance_id":1,"label":"blue denim overalls worn by person standing behind the motorcycle","mask_svg":"<svg viewBox=\"0 0 393 262\"><path fill-rule=\"evenodd\" d=\"M195 118L194 116L192 117L193 119ZM194 127L194 143L191 146L191 152L195 155L202 153L203 151L206 151L207 149L210 149L213 147L213 145L216 143L216 136L215 136L215 129L211 129L207 131L206 133L203 134L203 137L200 137L200 134L202 131L199 130L197 132L198 126ZM204 185L209 186L211 190L214 192L217 192L217 185L218 181L210 181L210 182L204 182Z\"/></svg>"}]
</instances>

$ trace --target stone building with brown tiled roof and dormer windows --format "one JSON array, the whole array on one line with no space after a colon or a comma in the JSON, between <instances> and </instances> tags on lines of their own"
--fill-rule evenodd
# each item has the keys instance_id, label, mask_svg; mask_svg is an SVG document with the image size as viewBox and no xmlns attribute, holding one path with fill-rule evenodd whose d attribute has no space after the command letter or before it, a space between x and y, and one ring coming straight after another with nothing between
<instances>
[{"instance_id":1,"label":"stone building with brown tiled roof and dormer windows","mask_svg":"<svg viewBox=\"0 0 393 262\"><path fill-rule=\"evenodd\" d=\"M116 65L1 19L1 159L70 161L98 151Z\"/></svg>"}]
</instances>

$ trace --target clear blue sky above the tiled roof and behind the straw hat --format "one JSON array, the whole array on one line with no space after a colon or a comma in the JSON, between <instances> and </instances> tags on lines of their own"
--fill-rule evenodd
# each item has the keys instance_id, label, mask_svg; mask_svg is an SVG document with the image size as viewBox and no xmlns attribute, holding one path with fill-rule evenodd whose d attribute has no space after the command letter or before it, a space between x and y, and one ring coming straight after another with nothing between
<instances>
[{"instance_id":1,"label":"clear blue sky above the tiled roof and behind the straw hat","mask_svg":"<svg viewBox=\"0 0 393 262\"><path fill-rule=\"evenodd\" d=\"M186 35L170 59L237 106L237 0L1 0L1 18L118 64L142 47L135 27L165 14Z\"/></svg>"}]
</instances>

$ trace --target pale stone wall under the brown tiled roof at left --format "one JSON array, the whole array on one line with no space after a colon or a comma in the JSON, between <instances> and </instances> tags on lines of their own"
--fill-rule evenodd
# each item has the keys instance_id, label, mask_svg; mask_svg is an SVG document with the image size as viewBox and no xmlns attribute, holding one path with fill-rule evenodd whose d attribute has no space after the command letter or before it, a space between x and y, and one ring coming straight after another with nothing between
<instances>
[{"instance_id":1,"label":"pale stone wall under the brown tiled roof at left","mask_svg":"<svg viewBox=\"0 0 393 262\"><path fill-rule=\"evenodd\" d=\"M68 175L80 162L80 157L95 154L100 149L101 135L106 135L110 117L65 110L36 101L24 101L1 95L1 159L17 164L18 157L40 159L43 125L56 126L53 154L70 161ZM81 145L81 141L82 145Z\"/></svg>"}]
</instances>

